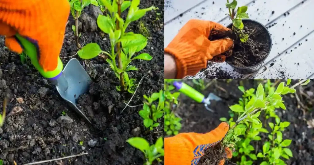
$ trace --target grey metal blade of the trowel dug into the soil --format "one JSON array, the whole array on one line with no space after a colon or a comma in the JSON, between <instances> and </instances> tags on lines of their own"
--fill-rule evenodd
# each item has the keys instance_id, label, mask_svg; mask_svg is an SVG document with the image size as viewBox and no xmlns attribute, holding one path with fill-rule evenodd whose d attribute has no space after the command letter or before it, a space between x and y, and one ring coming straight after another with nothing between
<instances>
[{"instance_id":1,"label":"grey metal blade of the trowel dug into the soil","mask_svg":"<svg viewBox=\"0 0 314 165\"><path fill-rule=\"evenodd\" d=\"M89 90L91 82L89 75L76 58L69 60L62 73L64 76L61 79L65 80L60 80L60 82L68 82L68 88L66 89L65 83L58 83L57 91L64 100L69 102L70 107L91 124L85 114L76 106L78 97Z\"/></svg>"}]
</instances>

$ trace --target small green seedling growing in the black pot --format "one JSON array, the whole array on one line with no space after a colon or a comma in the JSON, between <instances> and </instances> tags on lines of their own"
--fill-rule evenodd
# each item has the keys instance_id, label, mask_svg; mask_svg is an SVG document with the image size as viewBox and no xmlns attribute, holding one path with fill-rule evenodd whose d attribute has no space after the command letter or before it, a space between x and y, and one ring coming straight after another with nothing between
<instances>
[{"instance_id":1,"label":"small green seedling growing in the black pot","mask_svg":"<svg viewBox=\"0 0 314 165\"><path fill-rule=\"evenodd\" d=\"M241 42L246 42L249 38L249 35L244 34L242 29L244 28L244 24L242 22L242 19L249 18L248 14L246 14L247 6L238 7L237 12L235 14L235 9L238 2L236 0L233 0L231 3L229 3L229 0L227 0L226 6L229 10L229 15L232 20L232 30L236 31L239 34Z\"/></svg>"}]
</instances>

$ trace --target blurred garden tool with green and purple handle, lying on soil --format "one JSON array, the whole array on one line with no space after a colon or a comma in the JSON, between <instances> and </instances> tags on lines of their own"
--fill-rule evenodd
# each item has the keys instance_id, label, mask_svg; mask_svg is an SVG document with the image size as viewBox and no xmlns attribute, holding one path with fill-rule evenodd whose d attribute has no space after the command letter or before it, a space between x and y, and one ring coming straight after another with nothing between
<instances>
[{"instance_id":1,"label":"blurred garden tool with green and purple handle, lying on soil","mask_svg":"<svg viewBox=\"0 0 314 165\"><path fill-rule=\"evenodd\" d=\"M183 83L183 82L177 82L175 81L173 85L176 87L176 89L183 93L184 95L192 98L194 101L198 103L203 103L205 108L210 112L215 112L214 110L210 109L208 106L210 105L211 100L215 101L221 101L222 99L219 96L216 96L214 93L209 93L207 97L205 97L202 93L196 91L191 86Z\"/></svg>"}]
</instances>

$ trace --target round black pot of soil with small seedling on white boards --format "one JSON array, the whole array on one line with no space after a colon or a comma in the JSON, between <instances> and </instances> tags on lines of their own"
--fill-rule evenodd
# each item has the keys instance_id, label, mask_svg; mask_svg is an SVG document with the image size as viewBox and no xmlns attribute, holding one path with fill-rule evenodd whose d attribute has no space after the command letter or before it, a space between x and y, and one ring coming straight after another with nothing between
<instances>
[{"instance_id":1,"label":"round black pot of soil with small seedling on white boards","mask_svg":"<svg viewBox=\"0 0 314 165\"><path fill-rule=\"evenodd\" d=\"M271 50L271 37L265 26L248 19L247 6L237 8L237 1L229 2L226 7L232 23L227 27L232 29L230 38L234 40L232 55L226 58L226 63L243 74L250 74L261 67Z\"/></svg>"}]
</instances>

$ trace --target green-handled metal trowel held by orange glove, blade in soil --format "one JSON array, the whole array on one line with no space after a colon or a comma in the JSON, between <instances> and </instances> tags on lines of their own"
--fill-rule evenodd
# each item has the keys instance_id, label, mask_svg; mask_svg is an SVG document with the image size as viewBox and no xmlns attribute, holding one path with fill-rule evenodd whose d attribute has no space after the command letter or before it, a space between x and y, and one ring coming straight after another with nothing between
<instances>
[{"instance_id":1,"label":"green-handled metal trowel held by orange glove, blade in soil","mask_svg":"<svg viewBox=\"0 0 314 165\"><path fill-rule=\"evenodd\" d=\"M71 59L63 69L61 59L58 57L57 68L53 71L45 72L38 63L37 47L20 35L16 35L16 38L39 73L50 80L56 86L60 96L69 103L70 107L91 124L90 120L76 106L76 100L89 89L91 81L89 75L78 60L75 58Z\"/></svg>"}]
</instances>

